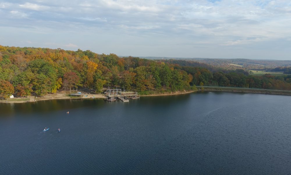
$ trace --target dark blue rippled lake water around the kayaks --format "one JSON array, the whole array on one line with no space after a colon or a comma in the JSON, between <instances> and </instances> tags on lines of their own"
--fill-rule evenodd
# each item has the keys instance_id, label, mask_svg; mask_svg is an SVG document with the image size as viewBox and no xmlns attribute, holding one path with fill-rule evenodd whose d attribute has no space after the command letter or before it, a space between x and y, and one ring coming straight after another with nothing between
<instances>
[{"instance_id":1,"label":"dark blue rippled lake water around the kayaks","mask_svg":"<svg viewBox=\"0 0 291 175\"><path fill-rule=\"evenodd\" d=\"M227 92L0 103L0 174L290 174L290 106Z\"/></svg>"}]
</instances>

